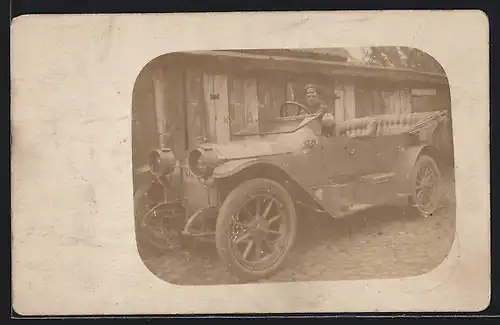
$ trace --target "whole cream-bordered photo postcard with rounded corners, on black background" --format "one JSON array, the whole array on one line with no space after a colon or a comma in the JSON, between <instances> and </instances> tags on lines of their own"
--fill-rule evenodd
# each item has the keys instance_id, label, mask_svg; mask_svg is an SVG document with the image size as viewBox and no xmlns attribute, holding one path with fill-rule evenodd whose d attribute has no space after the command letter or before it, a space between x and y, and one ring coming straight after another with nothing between
<instances>
[{"instance_id":1,"label":"whole cream-bordered photo postcard with rounded corners, on black background","mask_svg":"<svg viewBox=\"0 0 500 325\"><path fill-rule=\"evenodd\" d=\"M13 309L483 310L488 33L465 10L17 17Z\"/></svg>"}]
</instances>

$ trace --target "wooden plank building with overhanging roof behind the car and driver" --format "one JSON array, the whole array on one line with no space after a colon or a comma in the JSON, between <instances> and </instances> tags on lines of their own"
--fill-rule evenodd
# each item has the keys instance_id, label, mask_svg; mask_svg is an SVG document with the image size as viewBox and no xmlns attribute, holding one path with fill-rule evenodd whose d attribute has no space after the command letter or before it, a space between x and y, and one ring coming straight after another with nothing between
<instances>
[{"instance_id":1,"label":"wooden plank building with overhanging roof behind the car and driver","mask_svg":"<svg viewBox=\"0 0 500 325\"><path fill-rule=\"evenodd\" d=\"M151 61L133 94L133 161L173 148L182 158L206 138L231 141L249 121L278 116L285 100L304 101L318 85L337 120L450 110L445 75L366 66L348 55L291 50L173 53ZM311 53L309 53L311 54Z\"/></svg>"}]
</instances>

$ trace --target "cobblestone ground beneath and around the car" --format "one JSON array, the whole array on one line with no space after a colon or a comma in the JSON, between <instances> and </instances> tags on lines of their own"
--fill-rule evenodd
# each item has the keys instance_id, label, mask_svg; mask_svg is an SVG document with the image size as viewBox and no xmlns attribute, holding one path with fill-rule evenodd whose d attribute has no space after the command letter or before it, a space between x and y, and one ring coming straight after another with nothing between
<instances>
[{"instance_id":1,"label":"cobblestone ground beneath and around the car","mask_svg":"<svg viewBox=\"0 0 500 325\"><path fill-rule=\"evenodd\" d=\"M442 207L427 218L406 217L398 208L376 208L333 220L302 216L294 249L281 272L261 282L327 281L419 275L437 267L455 236L452 173L445 176ZM150 256L146 266L174 284L233 284L214 245Z\"/></svg>"}]
</instances>

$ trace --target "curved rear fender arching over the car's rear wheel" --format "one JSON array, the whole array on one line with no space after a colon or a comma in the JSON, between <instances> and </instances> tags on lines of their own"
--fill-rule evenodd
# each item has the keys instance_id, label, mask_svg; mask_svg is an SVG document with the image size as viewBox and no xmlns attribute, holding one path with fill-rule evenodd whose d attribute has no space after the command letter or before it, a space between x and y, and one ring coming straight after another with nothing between
<instances>
[{"instance_id":1,"label":"curved rear fender arching over the car's rear wheel","mask_svg":"<svg viewBox=\"0 0 500 325\"><path fill-rule=\"evenodd\" d=\"M418 146L407 148L399 155L399 158L396 161L396 165L394 167L396 184L399 193L411 193L411 173L418 157L421 153L424 152L434 158L434 160L437 160L438 151L433 145L430 144L421 144Z\"/></svg>"}]
</instances>

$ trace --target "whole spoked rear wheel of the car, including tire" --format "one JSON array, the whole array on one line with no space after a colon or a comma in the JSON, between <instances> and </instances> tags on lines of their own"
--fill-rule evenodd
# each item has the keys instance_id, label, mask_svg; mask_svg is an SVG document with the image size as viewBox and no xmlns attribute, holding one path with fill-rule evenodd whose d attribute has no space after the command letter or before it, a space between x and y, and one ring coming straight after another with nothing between
<instances>
[{"instance_id":1,"label":"whole spoked rear wheel of the car, including tire","mask_svg":"<svg viewBox=\"0 0 500 325\"><path fill-rule=\"evenodd\" d=\"M435 160L421 155L413 168L411 181L411 208L421 216L432 215L441 198L441 174Z\"/></svg>"}]
</instances>

